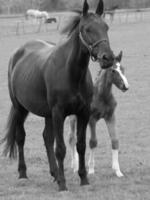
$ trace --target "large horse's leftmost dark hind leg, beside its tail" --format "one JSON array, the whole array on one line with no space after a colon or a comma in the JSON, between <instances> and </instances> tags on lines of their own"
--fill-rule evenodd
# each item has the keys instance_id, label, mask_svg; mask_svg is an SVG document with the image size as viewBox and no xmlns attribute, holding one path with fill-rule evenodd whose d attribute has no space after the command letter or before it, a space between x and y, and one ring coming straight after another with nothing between
<instances>
[{"instance_id":1,"label":"large horse's leftmost dark hind leg, beside its tail","mask_svg":"<svg viewBox=\"0 0 150 200\"><path fill-rule=\"evenodd\" d=\"M18 110L18 120L16 123L16 143L18 145L18 172L19 178L27 178L26 174L26 164L24 159L24 143L25 143L25 130L24 130L24 121L28 115L28 111L23 107L20 107Z\"/></svg>"}]
</instances>

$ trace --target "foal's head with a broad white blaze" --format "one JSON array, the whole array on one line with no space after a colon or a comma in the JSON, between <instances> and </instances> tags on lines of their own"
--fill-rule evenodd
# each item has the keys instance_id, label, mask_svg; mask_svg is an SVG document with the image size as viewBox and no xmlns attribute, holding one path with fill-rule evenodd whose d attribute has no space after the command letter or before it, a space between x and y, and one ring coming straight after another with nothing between
<instances>
[{"instance_id":1,"label":"foal's head with a broad white blaze","mask_svg":"<svg viewBox=\"0 0 150 200\"><path fill-rule=\"evenodd\" d=\"M110 68L112 83L123 92L129 89L127 78L124 74L124 68L121 65L122 51L115 57L113 66Z\"/></svg>"}]
</instances>

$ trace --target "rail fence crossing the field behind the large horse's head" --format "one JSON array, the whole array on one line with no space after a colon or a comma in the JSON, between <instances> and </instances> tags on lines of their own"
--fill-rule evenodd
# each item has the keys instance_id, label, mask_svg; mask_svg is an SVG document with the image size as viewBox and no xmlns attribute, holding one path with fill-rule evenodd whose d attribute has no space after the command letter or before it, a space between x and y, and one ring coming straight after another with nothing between
<instances>
[{"instance_id":1,"label":"rail fence crossing the field behind the large horse's head","mask_svg":"<svg viewBox=\"0 0 150 200\"><path fill-rule=\"evenodd\" d=\"M1 15L0 37L56 31L63 26L72 14L70 12L50 13L50 17L57 19L56 23L50 24L45 24L42 21L35 23L32 20L25 20L24 15ZM114 24L150 21L150 8L109 11L106 12L105 19L108 23Z\"/></svg>"}]
</instances>

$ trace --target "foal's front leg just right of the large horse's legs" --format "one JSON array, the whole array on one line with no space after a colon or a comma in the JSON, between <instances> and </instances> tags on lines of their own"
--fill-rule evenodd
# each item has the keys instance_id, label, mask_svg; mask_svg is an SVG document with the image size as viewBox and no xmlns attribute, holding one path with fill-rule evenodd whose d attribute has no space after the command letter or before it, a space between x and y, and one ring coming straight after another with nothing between
<instances>
[{"instance_id":1,"label":"foal's front leg just right of the large horse's legs","mask_svg":"<svg viewBox=\"0 0 150 200\"><path fill-rule=\"evenodd\" d=\"M90 118L89 120L89 127L90 127L90 132L91 132L91 138L89 141L89 146L90 146L90 157L88 161L88 166L89 166L89 174L94 174L95 173L95 159L94 159L94 150L95 147L97 146L97 138L96 138L96 120L94 118Z\"/></svg>"}]
</instances>

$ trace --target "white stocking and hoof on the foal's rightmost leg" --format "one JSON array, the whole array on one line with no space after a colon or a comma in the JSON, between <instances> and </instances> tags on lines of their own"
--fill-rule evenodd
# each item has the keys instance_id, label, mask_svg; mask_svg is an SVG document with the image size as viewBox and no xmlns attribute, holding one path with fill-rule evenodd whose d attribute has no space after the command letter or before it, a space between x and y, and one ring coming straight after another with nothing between
<instances>
[{"instance_id":1,"label":"white stocking and hoof on the foal's rightmost leg","mask_svg":"<svg viewBox=\"0 0 150 200\"><path fill-rule=\"evenodd\" d=\"M112 150L112 169L118 177L124 176L120 171L119 160L118 160L118 150Z\"/></svg>"}]
</instances>

